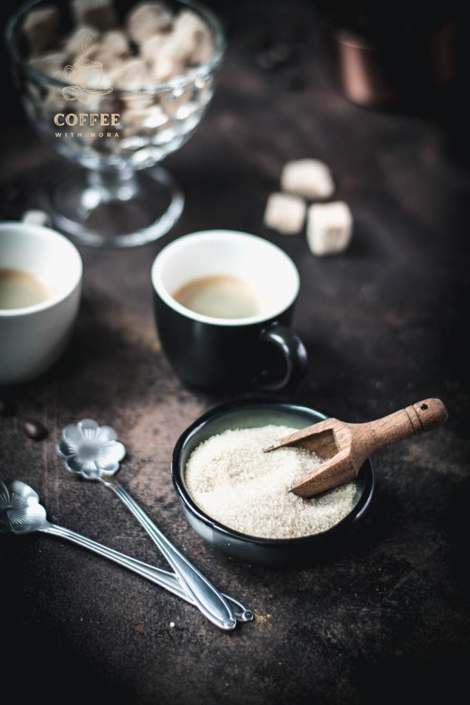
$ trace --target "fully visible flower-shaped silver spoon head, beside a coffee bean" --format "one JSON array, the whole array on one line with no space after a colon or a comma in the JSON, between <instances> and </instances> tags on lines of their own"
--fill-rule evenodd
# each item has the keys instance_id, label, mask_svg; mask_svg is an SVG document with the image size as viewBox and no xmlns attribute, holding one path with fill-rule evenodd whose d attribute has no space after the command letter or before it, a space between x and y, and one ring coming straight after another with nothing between
<instances>
[{"instance_id":1,"label":"fully visible flower-shaped silver spoon head, beside a coffee bean","mask_svg":"<svg viewBox=\"0 0 470 705\"><path fill-rule=\"evenodd\" d=\"M119 470L125 448L117 438L116 431L110 426L99 426L93 419L82 419L63 429L57 450L66 470L87 480L96 480Z\"/></svg>"}]
</instances>

